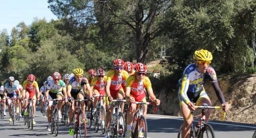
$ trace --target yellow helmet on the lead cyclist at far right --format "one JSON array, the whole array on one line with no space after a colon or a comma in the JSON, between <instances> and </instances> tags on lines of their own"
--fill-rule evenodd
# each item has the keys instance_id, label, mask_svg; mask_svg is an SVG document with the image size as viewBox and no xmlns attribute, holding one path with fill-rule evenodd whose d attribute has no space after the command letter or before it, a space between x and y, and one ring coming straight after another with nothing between
<instances>
[{"instance_id":1,"label":"yellow helmet on the lead cyclist at far right","mask_svg":"<svg viewBox=\"0 0 256 138\"><path fill-rule=\"evenodd\" d=\"M193 58L195 60L199 60L199 61L211 61L212 55L207 50L197 50L197 51L195 51Z\"/></svg>"}]
</instances>

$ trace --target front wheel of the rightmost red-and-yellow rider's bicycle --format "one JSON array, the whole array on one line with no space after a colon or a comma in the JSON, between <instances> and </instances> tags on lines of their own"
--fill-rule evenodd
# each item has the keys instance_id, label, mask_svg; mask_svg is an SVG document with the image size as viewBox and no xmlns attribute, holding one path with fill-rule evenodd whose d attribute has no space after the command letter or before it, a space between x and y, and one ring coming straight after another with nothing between
<instances>
[{"instance_id":1,"label":"front wheel of the rightmost red-and-yellow rider's bicycle","mask_svg":"<svg viewBox=\"0 0 256 138\"><path fill-rule=\"evenodd\" d=\"M137 121L136 128L134 131L134 137L139 137L139 128L143 127L142 133L144 137L147 137L147 124L146 119L143 116L140 116L139 121Z\"/></svg>"}]
</instances>

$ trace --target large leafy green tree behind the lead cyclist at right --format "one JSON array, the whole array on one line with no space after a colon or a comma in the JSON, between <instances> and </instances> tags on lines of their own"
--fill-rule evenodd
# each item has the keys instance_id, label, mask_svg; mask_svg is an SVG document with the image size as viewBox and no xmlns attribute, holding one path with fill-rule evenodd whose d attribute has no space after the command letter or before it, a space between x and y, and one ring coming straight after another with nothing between
<instances>
[{"instance_id":1,"label":"large leafy green tree behind the lead cyclist at right","mask_svg":"<svg viewBox=\"0 0 256 138\"><path fill-rule=\"evenodd\" d=\"M249 0L173 1L164 22L173 40L169 62L184 68L195 50L207 49L214 55L216 70L245 73L253 59L249 45L254 12Z\"/></svg>"}]
</instances>

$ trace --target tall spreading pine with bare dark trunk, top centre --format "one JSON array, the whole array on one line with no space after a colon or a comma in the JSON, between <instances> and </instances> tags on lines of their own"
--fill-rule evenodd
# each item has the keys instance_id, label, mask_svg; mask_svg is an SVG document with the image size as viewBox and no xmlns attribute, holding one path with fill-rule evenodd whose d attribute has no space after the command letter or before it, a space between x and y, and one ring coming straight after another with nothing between
<instances>
[{"instance_id":1,"label":"tall spreading pine with bare dark trunk, top centre","mask_svg":"<svg viewBox=\"0 0 256 138\"><path fill-rule=\"evenodd\" d=\"M76 22L76 26L97 23L102 40L114 26L127 26L135 40L137 62L145 62L150 42L160 31L156 17L164 13L170 1L70 1L49 0L51 11L59 18ZM119 30L122 32L125 30ZM120 37L120 35L115 36ZM125 45L125 44L122 44ZM129 45L134 49L133 45Z\"/></svg>"}]
</instances>

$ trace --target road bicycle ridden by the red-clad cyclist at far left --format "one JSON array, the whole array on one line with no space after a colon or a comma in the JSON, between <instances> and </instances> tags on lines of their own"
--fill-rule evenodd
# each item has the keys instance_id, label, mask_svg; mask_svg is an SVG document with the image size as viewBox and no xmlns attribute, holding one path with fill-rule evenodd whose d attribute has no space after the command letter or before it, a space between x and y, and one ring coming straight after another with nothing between
<instances>
[{"instance_id":1,"label":"road bicycle ridden by the red-clad cyclist at far left","mask_svg":"<svg viewBox=\"0 0 256 138\"><path fill-rule=\"evenodd\" d=\"M27 115L23 117L24 119L24 125L27 124L28 128L31 127L31 130L33 130L33 106L32 106L32 101L35 99L29 98L29 99L24 99L24 101L28 100L28 105L27 105Z\"/></svg>"}]
</instances>

